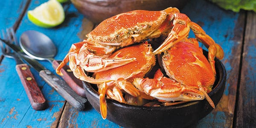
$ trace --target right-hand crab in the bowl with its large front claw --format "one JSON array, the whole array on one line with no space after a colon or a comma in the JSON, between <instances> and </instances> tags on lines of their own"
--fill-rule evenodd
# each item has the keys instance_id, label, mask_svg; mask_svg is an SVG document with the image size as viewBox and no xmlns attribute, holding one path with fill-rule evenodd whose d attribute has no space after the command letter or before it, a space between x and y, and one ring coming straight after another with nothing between
<instances>
[{"instance_id":1,"label":"right-hand crab in the bowl with its large front claw","mask_svg":"<svg viewBox=\"0 0 256 128\"><path fill-rule=\"evenodd\" d=\"M158 70L154 79L134 79L134 86L162 102L206 98L212 108L215 108L207 94L215 82L215 62L211 58L207 60L198 41L192 38L178 42L164 51L160 61L160 65L171 79L164 77ZM211 62L213 65L210 65Z\"/></svg>"}]
</instances>

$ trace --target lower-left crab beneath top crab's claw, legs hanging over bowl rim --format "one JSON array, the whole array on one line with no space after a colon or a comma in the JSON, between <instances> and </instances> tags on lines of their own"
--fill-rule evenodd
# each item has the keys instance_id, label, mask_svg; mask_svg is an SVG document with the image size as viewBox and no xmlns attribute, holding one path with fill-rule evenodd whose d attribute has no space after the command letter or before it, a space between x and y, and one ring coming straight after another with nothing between
<instances>
[{"instance_id":1,"label":"lower-left crab beneath top crab's claw, legs hanging over bowl rim","mask_svg":"<svg viewBox=\"0 0 256 128\"><path fill-rule=\"evenodd\" d=\"M136 60L120 67L112 68L102 72L96 72L93 74L95 79L112 80L108 83L98 85L98 92L100 94L100 111L103 119L106 119L107 117L107 104L105 101L105 95L107 95L107 97L110 99L114 99L122 103L128 103L125 101L122 95L124 92L139 98L139 103L137 105L142 104L142 99L154 99L151 96L147 96L140 90L137 90L136 87L128 82L136 77L144 77L145 74L148 73L152 67L154 67L156 58L152 52L153 49L151 45L147 43L119 49L110 55L109 58L136 58Z\"/></svg>"}]
</instances>

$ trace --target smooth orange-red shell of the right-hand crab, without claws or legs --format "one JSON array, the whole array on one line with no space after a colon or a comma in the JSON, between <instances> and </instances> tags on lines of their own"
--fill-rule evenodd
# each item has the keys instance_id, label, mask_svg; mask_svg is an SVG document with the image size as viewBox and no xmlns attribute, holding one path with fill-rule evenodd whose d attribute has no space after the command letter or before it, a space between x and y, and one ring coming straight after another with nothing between
<instances>
[{"instance_id":1,"label":"smooth orange-red shell of the right-hand crab, without claws or legs","mask_svg":"<svg viewBox=\"0 0 256 128\"><path fill-rule=\"evenodd\" d=\"M164 52L163 68L176 81L193 88L203 87L209 93L215 74L195 39L180 41Z\"/></svg>"}]
</instances>

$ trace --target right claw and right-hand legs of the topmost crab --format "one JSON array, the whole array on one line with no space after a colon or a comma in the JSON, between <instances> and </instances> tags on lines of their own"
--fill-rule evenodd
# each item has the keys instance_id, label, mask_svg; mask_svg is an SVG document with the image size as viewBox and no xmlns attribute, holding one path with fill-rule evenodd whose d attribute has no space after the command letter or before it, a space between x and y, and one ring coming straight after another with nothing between
<instances>
[{"instance_id":1,"label":"right claw and right-hand legs of the topmost crab","mask_svg":"<svg viewBox=\"0 0 256 128\"><path fill-rule=\"evenodd\" d=\"M175 12L175 8L167 8L165 10L167 13ZM177 12L177 11L176 11ZM169 25L169 21L173 20L173 24ZM166 49L169 49L173 45L175 45L177 42L183 40L186 38L189 34L189 30L192 29L192 31L195 34L195 37L198 39L198 41L202 42L209 51L208 54L208 60L211 64L212 70L215 73L215 56L219 59L222 59L224 57L223 49L220 47L220 45L216 44L215 41L207 35L204 30L197 24L192 22L189 17L187 17L185 14L181 13L174 13L169 14L166 17L166 20L160 26L159 31L165 32L168 27L172 27L171 32L169 33L168 37L165 41L158 47L156 50L154 50L153 54L159 54ZM216 74L216 73L215 73Z\"/></svg>"}]
</instances>

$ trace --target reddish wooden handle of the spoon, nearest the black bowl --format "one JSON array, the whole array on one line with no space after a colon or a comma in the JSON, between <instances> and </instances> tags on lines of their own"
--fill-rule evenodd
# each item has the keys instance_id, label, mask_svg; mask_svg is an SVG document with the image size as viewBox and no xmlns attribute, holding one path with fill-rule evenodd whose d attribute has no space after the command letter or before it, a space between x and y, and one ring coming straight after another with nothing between
<instances>
[{"instance_id":1,"label":"reddish wooden handle of the spoon, nearest the black bowl","mask_svg":"<svg viewBox=\"0 0 256 128\"><path fill-rule=\"evenodd\" d=\"M52 62L52 67L54 69L56 69L58 67L58 65L61 63L61 61L56 61L54 60ZM80 79L77 79L73 72L70 70L69 66L65 65L62 69L61 69L61 73L63 73L62 79L64 79L64 81L67 82L67 84L79 95L82 97L86 97L85 96L85 90L83 88L83 83Z\"/></svg>"}]
</instances>

